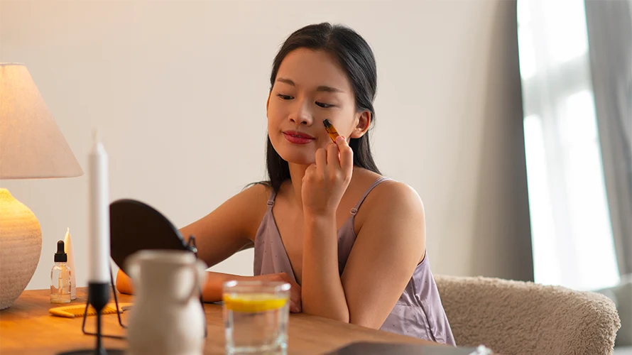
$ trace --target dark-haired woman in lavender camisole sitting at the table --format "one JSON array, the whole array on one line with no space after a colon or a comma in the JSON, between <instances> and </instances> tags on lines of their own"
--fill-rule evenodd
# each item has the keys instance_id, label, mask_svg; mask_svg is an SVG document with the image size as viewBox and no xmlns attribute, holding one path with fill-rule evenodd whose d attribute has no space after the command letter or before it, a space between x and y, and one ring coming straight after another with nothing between
<instances>
[{"instance_id":1,"label":"dark-haired woman in lavender camisole sitting at the table","mask_svg":"<svg viewBox=\"0 0 632 355\"><path fill-rule=\"evenodd\" d=\"M181 230L209 266L254 246L255 276L209 273L205 300L221 300L227 280L283 280L292 312L454 345L420 197L371 155L376 86L371 48L349 28L306 26L285 41L267 103L269 180ZM116 286L132 292L121 272Z\"/></svg>"}]
</instances>

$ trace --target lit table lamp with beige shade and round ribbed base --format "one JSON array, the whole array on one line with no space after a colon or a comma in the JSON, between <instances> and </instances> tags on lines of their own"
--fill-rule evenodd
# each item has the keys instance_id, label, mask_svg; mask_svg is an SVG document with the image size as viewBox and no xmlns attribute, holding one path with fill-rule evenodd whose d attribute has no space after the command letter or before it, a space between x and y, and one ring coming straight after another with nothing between
<instances>
[{"instance_id":1,"label":"lit table lamp with beige shade and round ribbed base","mask_svg":"<svg viewBox=\"0 0 632 355\"><path fill-rule=\"evenodd\" d=\"M0 63L0 180L83 175L35 82L18 63ZM42 251L35 214L0 188L0 310L33 277Z\"/></svg>"}]
</instances>

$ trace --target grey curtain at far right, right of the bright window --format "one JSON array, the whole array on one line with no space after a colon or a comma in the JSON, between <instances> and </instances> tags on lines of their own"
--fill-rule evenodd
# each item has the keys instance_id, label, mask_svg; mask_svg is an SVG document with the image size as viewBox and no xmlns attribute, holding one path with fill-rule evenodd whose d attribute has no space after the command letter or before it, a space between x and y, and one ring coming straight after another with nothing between
<instances>
[{"instance_id":1,"label":"grey curtain at far right, right of the bright window","mask_svg":"<svg viewBox=\"0 0 632 355\"><path fill-rule=\"evenodd\" d=\"M628 275L632 274L632 0L585 0L585 9L612 232L619 273Z\"/></svg>"}]
</instances>

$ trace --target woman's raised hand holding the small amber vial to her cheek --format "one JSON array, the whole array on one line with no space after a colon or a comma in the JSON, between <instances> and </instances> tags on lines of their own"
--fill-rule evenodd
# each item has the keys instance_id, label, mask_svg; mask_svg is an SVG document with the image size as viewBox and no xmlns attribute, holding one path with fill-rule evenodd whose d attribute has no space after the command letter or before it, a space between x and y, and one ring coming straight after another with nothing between
<instances>
[{"instance_id":1,"label":"woman's raised hand holding the small amber vial to her cheek","mask_svg":"<svg viewBox=\"0 0 632 355\"><path fill-rule=\"evenodd\" d=\"M343 136L327 148L316 151L316 162L305 170L301 195L303 213L312 216L335 215L342 195L351 181L354 153Z\"/></svg>"}]
</instances>

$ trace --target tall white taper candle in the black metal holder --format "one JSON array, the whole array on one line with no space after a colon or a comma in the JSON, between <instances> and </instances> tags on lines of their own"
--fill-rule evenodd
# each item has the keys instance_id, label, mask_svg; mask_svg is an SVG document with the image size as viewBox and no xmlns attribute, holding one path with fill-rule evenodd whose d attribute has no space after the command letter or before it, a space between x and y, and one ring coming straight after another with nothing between
<instances>
[{"instance_id":1,"label":"tall white taper candle in the black metal holder","mask_svg":"<svg viewBox=\"0 0 632 355\"><path fill-rule=\"evenodd\" d=\"M109 283L109 191L107 153L94 131L90 160L89 282Z\"/></svg>"}]
</instances>

